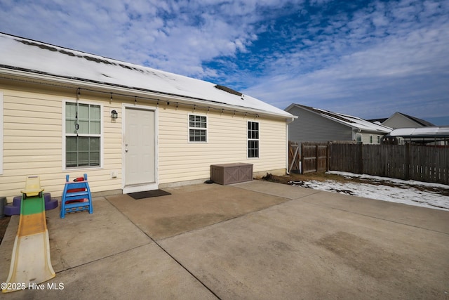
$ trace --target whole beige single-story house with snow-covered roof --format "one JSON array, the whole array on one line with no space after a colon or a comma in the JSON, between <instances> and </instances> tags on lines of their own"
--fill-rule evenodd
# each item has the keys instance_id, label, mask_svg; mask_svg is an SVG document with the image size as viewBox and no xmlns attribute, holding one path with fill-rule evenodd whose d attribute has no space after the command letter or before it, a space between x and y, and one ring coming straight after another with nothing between
<instances>
[{"instance_id":1,"label":"whole beige single-story house with snow-covered roof","mask_svg":"<svg viewBox=\"0 0 449 300\"><path fill-rule=\"evenodd\" d=\"M0 34L0 196L30 175L58 197L66 174L107 193L202 183L211 164L285 174L292 119L225 86Z\"/></svg>"}]
</instances>

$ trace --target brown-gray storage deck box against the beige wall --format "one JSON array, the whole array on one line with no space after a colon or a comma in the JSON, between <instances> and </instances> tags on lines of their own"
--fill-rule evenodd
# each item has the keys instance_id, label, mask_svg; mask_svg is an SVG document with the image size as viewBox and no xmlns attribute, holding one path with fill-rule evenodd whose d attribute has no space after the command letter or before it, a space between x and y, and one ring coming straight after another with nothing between
<instances>
[{"instance_id":1,"label":"brown-gray storage deck box against the beige wall","mask_svg":"<svg viewBox=\"0 0 449 300\"><path fill-rule=\"evenodd\" d=\"M253 180L253 164L213 164L210 166L210 180L222 185Z\"/></svg>"}]
</instances>

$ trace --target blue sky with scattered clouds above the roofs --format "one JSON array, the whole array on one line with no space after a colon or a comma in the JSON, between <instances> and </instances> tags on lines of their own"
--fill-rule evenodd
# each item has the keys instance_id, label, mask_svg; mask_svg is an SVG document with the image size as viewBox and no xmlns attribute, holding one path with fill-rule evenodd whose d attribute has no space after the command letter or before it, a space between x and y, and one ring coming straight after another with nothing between
<instances>
[{"instance_id":1,"label":"blue sky with scattered clouds above the roofs","mask_svg":"<svg viewBox=\"0 0 449 300\"><path fill-rule=\"evenodd\" d=\"M449 125L449 1L0 0L0 32L212 81L281 109Z\"/></svg>"}]
</instances>

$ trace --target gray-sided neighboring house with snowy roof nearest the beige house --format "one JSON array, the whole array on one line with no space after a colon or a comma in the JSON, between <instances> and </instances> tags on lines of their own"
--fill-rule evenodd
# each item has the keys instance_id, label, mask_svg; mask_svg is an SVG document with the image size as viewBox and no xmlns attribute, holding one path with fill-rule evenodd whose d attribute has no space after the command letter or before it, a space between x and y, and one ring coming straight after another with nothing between
<instances>
[{"instance_id":1,"label":"gray-sided neighboring house with snowy roof nearest the beige house","mask_svg":"<svg viewBox=\"0 0 449 300\"><path fill-rule=\"evenodd\" d=\"M387 126L358 117L300 104L291 104L285 110L297 116L288 126L288 138L298 143L357 141L380 144L382 136L391 131Z\"/></svg>"}]
</instances>

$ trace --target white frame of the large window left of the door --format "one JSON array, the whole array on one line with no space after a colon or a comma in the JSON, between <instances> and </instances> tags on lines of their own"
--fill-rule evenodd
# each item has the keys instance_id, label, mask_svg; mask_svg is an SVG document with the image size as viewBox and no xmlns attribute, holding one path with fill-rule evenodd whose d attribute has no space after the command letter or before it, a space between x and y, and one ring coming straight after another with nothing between
<instances>
[{"instance_id":1,"label":"white frame of the large window left of the door","mask_svg":"<svg viewBox=\"0 0 449 300\"><path fill-rule=\"evenodd\" d=\"M65 107L67 105L67 103L76 103L75 100L64 100L62 101L62 170L63 171L71 171L71 170L83 170L83 169L88 169L88 170L92 170L92 169L102 169L103 168L103 163L104 163L104 159L105 159L105 149L104 149L104 143L105 143L105 129L103 126L103 122L105 119L104 113L103 113L103 105L102 103L97 103L97 102L93 102L93 101L83 101L83 100L79 100L78 104L88 104L88 105L98 105L100 106L100 134L96 135L98 137L100 137L100 166L91 166L91 167L67 167L67 162L66 162L66 137L67 136L76 136L76 135L72 135L72 134L68 134L65 133Z\"/></svg>"}]
</instances>

